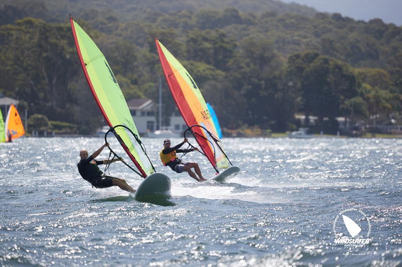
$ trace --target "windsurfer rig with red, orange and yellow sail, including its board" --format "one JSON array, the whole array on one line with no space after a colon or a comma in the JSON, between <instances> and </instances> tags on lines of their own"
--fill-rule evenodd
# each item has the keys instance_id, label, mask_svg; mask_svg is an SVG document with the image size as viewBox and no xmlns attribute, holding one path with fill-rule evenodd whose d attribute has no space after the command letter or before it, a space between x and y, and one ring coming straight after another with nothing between
<instances>
[{"instance_id":1,"label":"windsurfer rig with red, orange and yellow sail, including its board","mask_svg":"<svg viewBox=\"0 0 402 267\"><path fill-rule=\"evenodd\" d=\"M198 86L188 71L157 38L155 43L170 92L188 127L184 135L186 132L192 134L203 151L201 153L207 157L217 172L216 176L220 181L224 181L228 176L236 175L240 168L233 166L225 154L216 126ZM225 170L220 173L219 169Z\"/></svg>"}]
</instances>

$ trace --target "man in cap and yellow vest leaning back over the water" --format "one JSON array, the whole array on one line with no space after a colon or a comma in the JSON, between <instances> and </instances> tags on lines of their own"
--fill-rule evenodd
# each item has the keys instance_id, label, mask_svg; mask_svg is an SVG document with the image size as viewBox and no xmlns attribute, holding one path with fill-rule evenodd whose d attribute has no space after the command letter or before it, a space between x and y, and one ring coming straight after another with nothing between
<instances>
[{"instance_id":1,"label":"man in cap and yellow vest leaning back over the water","mask_svg":"<svg viewBox=\"0 0 402 267\"><path fill-rule=\"evenodd\" d=\"M203 175L201 174L201 170L198 167L198 164L195 162L181 162L179 158L177 158L176 153L187 153L187 152L192 152L194 150L198 150L198 148L191 148L191 149L179 149L184 143L187 142L187 138L184 138L184 141L181 142L180 144L170 147L170 140L166 139L163 141L163 146L164 148L160 151L159 156L160 160L163 163L163 166L169 166L172 170L174 170L177 173L182 173L183 171L186 171L188 175L190 175L192 178L197 180L198 182L202 181L207 181L207 179L204 179ZM191 170L191 168L194 168L195 173ZM197 177L198 175L198 177Z\"/></svg>"}]
</instances>

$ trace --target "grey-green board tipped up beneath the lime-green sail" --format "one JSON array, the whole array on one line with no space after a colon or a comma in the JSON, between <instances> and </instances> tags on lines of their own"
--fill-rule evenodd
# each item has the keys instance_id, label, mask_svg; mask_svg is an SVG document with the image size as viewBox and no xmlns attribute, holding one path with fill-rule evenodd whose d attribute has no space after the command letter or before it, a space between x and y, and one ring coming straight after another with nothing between
<instances>
[{"instance_id":1,"label":"grey-green board tipped up beneath the lime-green sail","mask_svg":"<svg viewBox=\"0 0 402 267\"><path fill-rule=\"evenodd\" d=\"M169 198L171 181L169 176L161 172L155 172L145 178L134 194L136 200L150 198L152 196Z\"/></svg>"}]
</instances>

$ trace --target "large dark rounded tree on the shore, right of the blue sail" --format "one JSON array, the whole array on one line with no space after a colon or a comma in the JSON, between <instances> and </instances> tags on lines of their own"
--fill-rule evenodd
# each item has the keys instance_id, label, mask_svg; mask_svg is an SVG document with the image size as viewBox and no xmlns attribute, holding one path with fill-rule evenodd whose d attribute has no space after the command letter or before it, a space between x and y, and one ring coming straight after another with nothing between
<instances>
[{"instance_id":1,"label":"large dark rounded tree on the shore, right of the blue sail","mask_svg":"<svg viewBox=\"0 0 402 267\"><path fill-rule=\"evenodd\" d=\"M321 129L324 117L334 121L345 101L358 95L359 81L345 63L310 52L289 57L288 65L288 79L296 81L306 117L318 116Z\"/></svg>"}]
</instances>

